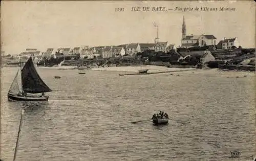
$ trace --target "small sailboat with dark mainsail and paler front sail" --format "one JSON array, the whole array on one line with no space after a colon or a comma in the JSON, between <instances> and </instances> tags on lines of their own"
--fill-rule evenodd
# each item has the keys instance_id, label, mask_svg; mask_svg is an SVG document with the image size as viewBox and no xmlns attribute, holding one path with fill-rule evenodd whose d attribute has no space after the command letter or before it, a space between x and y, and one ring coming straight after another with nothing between
<instances>
[{"instance_id":1,"label":"small sailboat with dark mainsail and paler front sail","mask_svg":"<svg viewBox=\"0 0 256 161\"><path fill-rule=\"evenodd\" d=\"M32 57L25 63L22 68L20 63L20 74L22 89L19 89L18 81L19 70L14 77L11 87L8 91L8 100L14 101L48 101L49 96L45 96L46 92L52 91L36 72ZM40 94L35 96L31 94Z\"/></svg>"}]
</instances>

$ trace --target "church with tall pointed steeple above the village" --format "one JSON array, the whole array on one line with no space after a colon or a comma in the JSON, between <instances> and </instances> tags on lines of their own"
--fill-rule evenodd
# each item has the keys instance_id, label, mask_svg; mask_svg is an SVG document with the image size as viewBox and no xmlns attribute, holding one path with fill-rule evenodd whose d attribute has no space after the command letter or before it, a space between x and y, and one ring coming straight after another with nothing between
<instances>
[{"instance_id":1,"label":"church with tall pointed steeple above the village","mask_svg":"<svg viewBox=\"0 0 256 161\"><path fill-rule=\"evenodd\" d=\"M186 24L183 16L181 48L203 47L206 45L217 45L214 35L186 35Z\"/></svg>"}]
</instances>

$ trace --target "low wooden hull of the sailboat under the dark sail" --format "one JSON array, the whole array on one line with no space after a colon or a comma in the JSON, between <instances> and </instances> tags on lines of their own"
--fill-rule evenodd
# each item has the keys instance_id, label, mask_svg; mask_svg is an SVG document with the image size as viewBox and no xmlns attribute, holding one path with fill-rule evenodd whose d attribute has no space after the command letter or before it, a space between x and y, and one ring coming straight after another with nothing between
<instances>
[{"instance_id":1,"label":"low wooden hull of the sailboat under the dark sail","mask_svg":"<svg viewBox=\"0 0 256 161\"><path fill-rule=\"evenodd\" d=\"M9 101L48 101L49 96L40 97L40 96L17 96L13 94L8 94Z\"/></svg>"}]
</instances>

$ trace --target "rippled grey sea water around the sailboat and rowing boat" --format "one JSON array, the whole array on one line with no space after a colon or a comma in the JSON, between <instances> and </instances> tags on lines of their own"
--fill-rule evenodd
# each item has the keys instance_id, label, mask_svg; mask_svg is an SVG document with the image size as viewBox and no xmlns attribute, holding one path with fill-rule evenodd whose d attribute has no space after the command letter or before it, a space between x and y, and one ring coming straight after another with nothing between
<instances>
[{"instance_id":1,"label":"rippled grey sea water around the sailboat and rowing boat","mask_svg":"<svg viewBox=\"0 0 256 161\"><path fill-rule=\"evenodd\" d=\"M4 70L1 159L13 158L21 109L17 160L22 161L225 160L236 150L242 159L254 155L253 77L38 70L55 90L47 93L48 102L38 103L8 102L16 71ZM131 124L159 110L174 120L164 126Z\"/></svg>"}]
</instances>

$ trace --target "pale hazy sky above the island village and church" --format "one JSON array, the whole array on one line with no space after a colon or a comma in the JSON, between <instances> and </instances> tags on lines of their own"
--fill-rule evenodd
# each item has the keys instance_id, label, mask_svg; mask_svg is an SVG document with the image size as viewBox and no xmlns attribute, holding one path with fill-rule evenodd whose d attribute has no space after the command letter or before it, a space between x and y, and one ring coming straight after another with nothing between
<instances>
[{"instance_id":1,"label":"pale hazy sky above the island village and church","mask_svg":"<svg viewBox=\"0 0 256 161\"><path fill-rule=\"evenodd\" d=\"M152 11L153 7L166 11ZM150 11L131 11L150 7ZM175 11L176 7L183 8ZM189 11L208 7L218 11ZM236 8L219 11L220 7ZM124 11L117 12L116 8ZM173 9L173 10L168 10ZM159 41L181 44L183 16L187 35L212 34L217 41L238 37L243 48L255 47L253 1L1 1L1 50L74 48Z\"/></svg>"}]
</instances>

